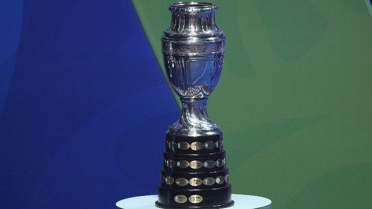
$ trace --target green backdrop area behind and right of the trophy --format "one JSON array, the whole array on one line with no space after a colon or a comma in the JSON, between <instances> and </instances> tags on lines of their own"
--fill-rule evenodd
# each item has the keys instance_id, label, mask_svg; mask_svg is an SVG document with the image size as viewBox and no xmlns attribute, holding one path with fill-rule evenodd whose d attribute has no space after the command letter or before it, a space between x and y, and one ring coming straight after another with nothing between
<instances>
[{"instance_id":1,"label":"green backdrop area behind and right of the trophy","mask_svg":"<svg viewBox=\"0 0 372 209\"><path fill-rule=\"evenodd\" d=\"M163 68L174 1L132 3ZM370 208L369 2L211 3L226 52L208 114L224 132L233 193L275 209Z\"/></svg>"}]
</instances>

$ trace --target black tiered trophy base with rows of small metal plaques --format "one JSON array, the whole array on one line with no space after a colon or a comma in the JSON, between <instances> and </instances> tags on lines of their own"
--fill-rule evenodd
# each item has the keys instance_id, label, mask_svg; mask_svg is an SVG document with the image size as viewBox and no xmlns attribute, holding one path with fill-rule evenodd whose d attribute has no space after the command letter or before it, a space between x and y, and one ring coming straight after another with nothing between
<instances>
[{"instance_id":1,"label":"black tiered trophy base with rows of small metal plaques","mask_svg":"<svg viewBox=\"0 0 372 209\"><path fill-rule=\"evenodd\" d=\"M206 136L166 134L158 201L163 208L232 206L222 132Z\"/></svg>"}]
</instances>

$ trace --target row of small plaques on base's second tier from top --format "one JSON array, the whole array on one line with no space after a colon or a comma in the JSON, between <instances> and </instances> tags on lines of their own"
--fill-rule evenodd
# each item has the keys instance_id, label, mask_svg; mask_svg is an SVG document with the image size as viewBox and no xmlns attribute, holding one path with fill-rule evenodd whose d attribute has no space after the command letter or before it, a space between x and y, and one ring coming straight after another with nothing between
<instances>
[{"instance_id":1,"label":"row of small plaques on base's second tier from top","mask_svg":"<svg viewBox=\"0 0 372 209\"><path fill-rule=\"evenodd\" d=\"M206 160L204 162L199 161L199 160L193 160L190 163L187 160L178 160L177 163L176 163L171 159L168 159L168 160L164 159L164 163L168 168L174 168L176 165L177 165L178 168L187 168L189 166L191 168L194 168L194 169L199 169L201 167L213 168L215 166L221 168L222 166L224 166L226 164L226 158L218 159L216 161Z\"/></svg>"}]
</instances>

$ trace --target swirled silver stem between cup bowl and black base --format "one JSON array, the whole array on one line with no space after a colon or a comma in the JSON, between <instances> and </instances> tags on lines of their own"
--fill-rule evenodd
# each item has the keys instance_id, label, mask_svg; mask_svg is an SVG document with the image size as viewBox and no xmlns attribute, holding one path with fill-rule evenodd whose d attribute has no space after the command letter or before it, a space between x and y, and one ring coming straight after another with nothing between
<instances>
[{"instance_id":1,"label":"swirled silver stem between cup bowl and black base","mask_svg":"<svg viewBox=\"0 0 372 209\"><path fill-rule=\"evenodd\" d=\"M182 103L181 117L172 126L170 132L187 133L188 135L204 132L218 134L220 128L209 119L207 114L208 98L180 98Z\"/></svg>"}]
</instances>

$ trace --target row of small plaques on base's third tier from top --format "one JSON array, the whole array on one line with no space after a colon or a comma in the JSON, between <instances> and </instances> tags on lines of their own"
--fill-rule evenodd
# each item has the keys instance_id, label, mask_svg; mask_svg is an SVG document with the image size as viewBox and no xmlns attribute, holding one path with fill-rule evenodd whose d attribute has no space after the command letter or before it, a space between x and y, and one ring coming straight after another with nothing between
<instances>
[{"instance_id":1,"label":"row of small plaques on base's third tier from top","mask_svg":"<svg viewBox=\"0 0 372 209\"><path fill-rule=\"evenodd\" d=\"M177 184L178 186L185 186L185 185L192 185L192 186L199 186L199 185L207 185L207 186L210 186L210 185L213 185L214 183L217 183L217 184L223 184L224 182L228 183L229 182L229 174L226 174L225 176L218 176L217 178L213 178L213 177L207 177L205 179L201 179L201 178L191 178L191 179L185 179L185 178L177 178L177 179L173 179L171 176L163 176L163 175L160 175L160 180L161 180L161 183L166 183L168 185L171 185L175 182L175 184Z\"/></svg>"}]
</instances>

